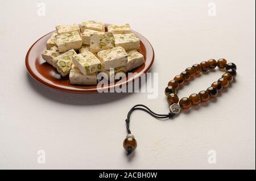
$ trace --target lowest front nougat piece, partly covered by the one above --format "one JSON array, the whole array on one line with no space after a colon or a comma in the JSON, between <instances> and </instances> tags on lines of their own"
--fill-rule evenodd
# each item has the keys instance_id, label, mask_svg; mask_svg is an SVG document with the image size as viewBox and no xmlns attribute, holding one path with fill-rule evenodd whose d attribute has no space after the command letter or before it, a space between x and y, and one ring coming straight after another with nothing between
<instances>
[{"instance_id":1,"label":"lowest front nougat piece, partly covered by the one above","mask_svg":"<svg viewBox=\"0 0 256 181\"><path fill-rule=\"evenodd\" d=\"M73 64L69 72L69 81L72 85L97 85L97 73L84 75Z\"/></svg>"}]
</instances>

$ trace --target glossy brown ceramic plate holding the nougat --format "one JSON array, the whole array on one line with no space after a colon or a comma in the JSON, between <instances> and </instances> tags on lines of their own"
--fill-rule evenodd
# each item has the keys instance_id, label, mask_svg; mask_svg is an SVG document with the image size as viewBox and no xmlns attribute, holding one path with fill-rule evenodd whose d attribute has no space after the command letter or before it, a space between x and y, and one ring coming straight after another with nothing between
<instances>
[{"instance_id":1,"label":"glossy brown ceramic plate holding the nougat","mask_svg":"<svg viewBox=\"0 0 256 181\"><path fill-rule=\"evenodd\" d=\"M106 24L108 26L108 24ZM43 85L46 85L52 89L75 92L75 93L93 93L98 92L99 88L97 86L79 86L71 85L69 82L68 75L66 77L61 77L53 66L49 65L43 60L41 54L46 50L46 41L52 35L52 31L47 35L44 35L39 40L37 40L28 50L26 55L26 67L28 73ZM143 37L138 32L133 31L135 35L141 40L141 53L144 56L145 64L139 66L138 68L131 70L130 72L137 73L133 77L126 77L125 81L116 81L114 84L109 84L108 87L102 87L100 89L111 89L113 86L121 86L123 83L131 83L135 79L142 76L150 70L154 61L154 50L149 43L149 41Z\"/></svg>"}]
</instances>

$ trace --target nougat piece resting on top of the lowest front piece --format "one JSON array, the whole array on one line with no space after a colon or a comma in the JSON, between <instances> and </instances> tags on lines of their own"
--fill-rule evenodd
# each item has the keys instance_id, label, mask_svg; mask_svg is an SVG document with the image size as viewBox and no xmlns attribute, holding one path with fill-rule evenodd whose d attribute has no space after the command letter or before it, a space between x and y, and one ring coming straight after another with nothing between
<instances>
[{"instance_id":1,"label":"nougat piece resting on top of the lowest front piece","mask_svg":"<svg viewBox=\"0 0 256 181\"><path fill-rule=\"evenodd\" d=\"M92 52L79 53L73 56L73 64L75 64L84 75L102 70L101 61L98 60Z\"/></svg>"}]
</instances>

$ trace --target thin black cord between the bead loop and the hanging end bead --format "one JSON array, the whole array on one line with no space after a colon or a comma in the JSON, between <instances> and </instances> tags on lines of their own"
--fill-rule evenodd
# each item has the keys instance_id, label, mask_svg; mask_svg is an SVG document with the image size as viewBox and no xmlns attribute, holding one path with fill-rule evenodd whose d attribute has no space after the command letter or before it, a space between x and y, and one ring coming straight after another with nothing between
<instances>
[{"instance_id":1,"label":"thin black cord between the bead loop and the hanging end bead","mask_svg":"<svg viewBox=\"0 0 256 181\"><path fill-rule=\"evenodd\" d=\"M126 129L127 129L127 133L128 134L131 134L131 130L130 130L130 116L131 116L131 113L134 110L141 110L141 111L147 112L151 116L153 116L153 117L155 117L157 119L166 119L166 118L170 118L171 119L172 117L174 117L174 113L172 113L172 112L169 112L168 115L161 115L161 114L158 114L158 113L155 113L155 112L151 111L150 108L148 108L147 106L144 106L143 104L137 104L134 107L132 107L131 110L127 113L127 119L125 120L125 122L126 122Z\"/></svg>"}]
</instances>

